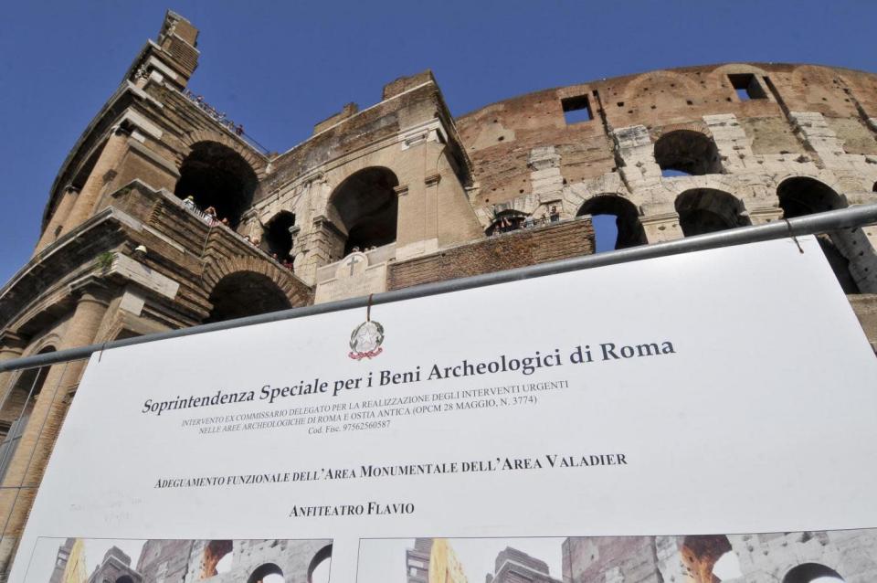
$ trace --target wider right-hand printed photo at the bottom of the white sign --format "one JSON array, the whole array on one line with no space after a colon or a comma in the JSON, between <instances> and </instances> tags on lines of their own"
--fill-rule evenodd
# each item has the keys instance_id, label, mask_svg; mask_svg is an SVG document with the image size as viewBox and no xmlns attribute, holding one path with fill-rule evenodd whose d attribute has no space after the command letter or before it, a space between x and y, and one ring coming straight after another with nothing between
<instances>
[{"instance_id":1,"label":"wider right-hand printed photo at the bottom of the white sign","mask_svg":"<svg viewBox=\"0 0 877 583\"><path fill-rule=\"evenodd\" d=\"M359 546L356 583L843 583L877 578L875 557L877 529L746 535L364 539Z\"/></svg>"}]
</instances>

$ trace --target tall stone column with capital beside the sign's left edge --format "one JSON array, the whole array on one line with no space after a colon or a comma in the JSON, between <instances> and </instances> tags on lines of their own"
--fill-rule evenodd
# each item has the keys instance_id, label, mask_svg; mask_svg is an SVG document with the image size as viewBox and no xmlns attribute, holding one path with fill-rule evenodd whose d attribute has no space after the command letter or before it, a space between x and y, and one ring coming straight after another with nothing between
<instances>
[{"instance_id":1,"label":"tall stone column with capital beside the sign's left edge","mask_svg":"<svg viewBox=\"0 0 877 583\"><path fill-rule=\"evenodd\" d=\"M110 291L93 278L73 284L70 292L77 296L77 302L67 332L58 343L58 349L61 350L95 342L95 334L110 300ZM79 360L49 368L30 421L3 478L0 522L5 524L5 529L0 541L0 579L5 580L15 557L18 539L24 530L37 486L67 413L69 395L79 384L85 364L85 360Z\"/></svg>"}]
</instances>

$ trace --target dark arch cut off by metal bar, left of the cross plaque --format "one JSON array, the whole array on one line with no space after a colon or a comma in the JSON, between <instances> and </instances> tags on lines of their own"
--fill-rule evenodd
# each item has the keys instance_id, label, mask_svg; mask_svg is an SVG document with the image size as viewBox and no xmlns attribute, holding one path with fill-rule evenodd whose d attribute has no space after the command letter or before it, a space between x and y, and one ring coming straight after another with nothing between
<instances>
[{"instance_id":1,"label":"dark arch cut off by metal bar, left of the cross plaque","mask_svg":"<svg viewBox=\"0 0 877 583\"><path fill-rule=\"evenodd\" d=\"M267 275L255 271L229 273L210 293L213 304L206 323L277 312L292 307L289 298Z\"/></svg>"}]
</instances>

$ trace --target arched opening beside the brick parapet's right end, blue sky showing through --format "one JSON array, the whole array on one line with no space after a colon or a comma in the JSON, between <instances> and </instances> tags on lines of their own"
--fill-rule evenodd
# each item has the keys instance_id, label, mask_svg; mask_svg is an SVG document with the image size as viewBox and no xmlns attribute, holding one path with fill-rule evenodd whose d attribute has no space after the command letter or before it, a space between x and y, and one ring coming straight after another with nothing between
<instances>
[{"instance_id":1,"label":"arched opening beside the brick parapet's right end, blue sky showing through","mask_svg":"<svg viewBox=\"0 0 877 583\"><path fill-rule=\"evenodd\" d=\"M617 195L594 196L576 213L590 215L597 240L596 252L635 247L646 242L639 211L628 199Z\"/></svg>"}]
</instances>

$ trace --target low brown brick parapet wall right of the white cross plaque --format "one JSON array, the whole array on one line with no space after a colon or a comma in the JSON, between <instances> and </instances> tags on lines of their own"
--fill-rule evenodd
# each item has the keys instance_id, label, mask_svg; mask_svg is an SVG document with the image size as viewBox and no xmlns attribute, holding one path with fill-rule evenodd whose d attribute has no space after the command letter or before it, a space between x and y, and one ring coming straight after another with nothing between
<instances>
[{"instance_id":1,"label":"low brown brick parapet wall right of the white cross plaque","mask_svg":"<svg viewBox=\"0 0 877 583\"><path fill-rule=\"evenodd\" d=\"M444 249L413 260L390 263L387 288L397 290L431 281L510 270L594 252L589 217L528 228Z\"/></svg>"}]
</instances>

